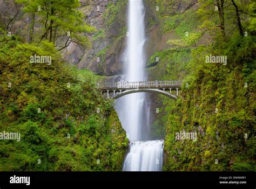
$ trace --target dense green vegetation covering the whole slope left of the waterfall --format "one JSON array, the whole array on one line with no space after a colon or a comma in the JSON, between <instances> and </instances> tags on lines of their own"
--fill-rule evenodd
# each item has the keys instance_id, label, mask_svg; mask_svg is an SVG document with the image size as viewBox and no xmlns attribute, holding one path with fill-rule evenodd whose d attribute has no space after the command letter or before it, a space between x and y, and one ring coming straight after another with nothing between
<instances>
[{"instance_id":1,"label":"dense green vegetation covering the whole slope left of the waterfall","mask_svg":"<svg viewBox=\"0 0 256 189\"><path fill-rule=\"evenodd\" d=\"M43 13L40 16L51 23ZM70 26L82 24L67 19L75 22ZM96 89L95 75L66 64L53 43L51 27L45 28L44 38L33 32L30 43L8 33L4 25L0 29L0 131L21 133L20 141L0 140L0 170L120 171L128 141L112 101L104 100ZM71 36L80 31L73 28ZM34 55L50 61L33 62Z\"/></svg>"}]
</instances>

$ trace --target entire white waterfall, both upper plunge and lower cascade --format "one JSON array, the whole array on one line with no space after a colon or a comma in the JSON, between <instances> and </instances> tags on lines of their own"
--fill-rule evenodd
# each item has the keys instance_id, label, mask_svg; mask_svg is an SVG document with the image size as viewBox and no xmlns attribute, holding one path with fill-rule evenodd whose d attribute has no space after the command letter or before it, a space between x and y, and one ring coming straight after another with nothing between
<instances>
[{"instance_id":1,"label":"entire white waterfall, both upper plunge and lower cascade","mask_svg":"<svg viewBox=\"0 0 256 189\"><path fill-rule=\"evenodd\" d=\"M127 49L124 66L126 81L145 81L143 0L129 0ZM164 141L146 141L150 138L150 105L144 93L129 94L116 101L116 110L130 140L123 171L161 171Z\"/></svg>"}]
</instances>

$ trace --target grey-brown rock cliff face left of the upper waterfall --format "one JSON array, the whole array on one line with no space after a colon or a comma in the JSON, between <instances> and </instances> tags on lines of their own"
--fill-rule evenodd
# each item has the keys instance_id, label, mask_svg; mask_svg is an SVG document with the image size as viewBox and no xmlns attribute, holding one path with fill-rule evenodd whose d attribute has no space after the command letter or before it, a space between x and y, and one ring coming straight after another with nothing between
<instances>
[{"instance_id":1,"label":"grey-brown rock cliff face left of the upper waterfall","mask_svg":"<svg viewBox=\"0 0 256 189\"><path fill-rule=\"evenodd\" d=\"M91 36L92 48L82 49L73 44L63 53L80 69L90 69L99 75L119 74L125 47L127 1L81 1L86 22L96 27Z\"/></svg>"}]
</instances>

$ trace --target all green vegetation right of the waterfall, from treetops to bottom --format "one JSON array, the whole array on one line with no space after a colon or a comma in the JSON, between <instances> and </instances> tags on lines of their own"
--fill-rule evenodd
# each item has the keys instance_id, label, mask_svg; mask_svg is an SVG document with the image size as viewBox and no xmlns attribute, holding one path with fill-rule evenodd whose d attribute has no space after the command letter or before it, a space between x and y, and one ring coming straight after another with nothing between
<instances>
[{"instance_id":1,"label":"all green vegetation right of the waterfall, from treetops to bottom","mask_svg":"<svg viewBox=\"0 0 256 189\"><path fill-rule=\"evenodd\" d=\"M159 62L148 71L158 80L184 81L177 102L164 98L155 123L166 129L165 171L256 169L255 3L235 1L239 22L232 2L219 9L224 18L216 2L200 1L181 14L168 11L174 2L160 4L163 32L177 37L167 41L173 47L152 55L148 65ZM210 54L226 56L227 64L206 63ZM197 140L177 140L177 132L197 132Z\"/></svg>"}]
</instances>

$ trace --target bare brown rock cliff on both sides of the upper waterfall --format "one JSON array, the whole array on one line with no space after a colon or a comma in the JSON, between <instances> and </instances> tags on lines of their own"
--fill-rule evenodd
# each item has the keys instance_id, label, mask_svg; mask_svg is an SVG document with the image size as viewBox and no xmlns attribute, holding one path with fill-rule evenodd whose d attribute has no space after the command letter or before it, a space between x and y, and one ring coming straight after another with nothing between
<instances>
[{"instance_id":1,"label":"bare brown rock cliff on both sides of the upper waterfall","mask_svg":"<svg viewBox=\"0 0 256 189\"><path fill-rule=\"evenodd\" d=\"M66 59L80 69L90 69L99 75L122 74L126 46L127 2L128 0L81 0L80 10L86 15L86 22L95 26L97 32L91 36L91 50L72 44L63 51ZM145 50L148 60L153 53L172 47L166 43L167 40L180 38L173 30L163 32L165 17L181 14L196 2L144 1L148 36Z\"/></svg>"}]
</instances>

